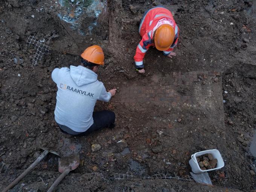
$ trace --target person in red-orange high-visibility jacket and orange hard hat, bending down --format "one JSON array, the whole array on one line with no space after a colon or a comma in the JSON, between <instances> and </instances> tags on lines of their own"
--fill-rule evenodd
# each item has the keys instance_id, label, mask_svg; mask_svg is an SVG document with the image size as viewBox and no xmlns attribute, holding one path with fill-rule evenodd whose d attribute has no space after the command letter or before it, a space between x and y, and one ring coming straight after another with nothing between
<instances>
[{"instance_id":1,"label":"person in red-orange high-visibility jacket and orange hard hat, bending down","mask_svg":"<svg viewBox=\"0 0 256 192\"><path fill-rule=\"evenodd\" d=\"M151 46L163 51L165 56L176 56L173 48L178 43L179 28L168 9L156 6L146 11L140 21L139 33L142 40L134 56L136 70L139 73L145 73L143 58Z\"/></svg>"}]
</instances>

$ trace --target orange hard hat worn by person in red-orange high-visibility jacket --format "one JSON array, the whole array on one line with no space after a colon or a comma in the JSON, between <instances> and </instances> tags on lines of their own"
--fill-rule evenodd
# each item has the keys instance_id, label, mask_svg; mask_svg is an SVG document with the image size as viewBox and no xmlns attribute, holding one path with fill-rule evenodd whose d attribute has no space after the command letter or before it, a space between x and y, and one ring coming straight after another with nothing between
<instances>
[{"instance_id":1,"label":"orange hard hat worn by person in red-orange high-visibility jacket","mask_svg":"<svg viewBox=\"0 0 256 192\"><path fill-rule=\"evenodd\" d=\"M174 28L169 24L163 24L155 30L155 47L160 51L165 51L170 48L174 38Z\"/></svg>"}]
</instances>

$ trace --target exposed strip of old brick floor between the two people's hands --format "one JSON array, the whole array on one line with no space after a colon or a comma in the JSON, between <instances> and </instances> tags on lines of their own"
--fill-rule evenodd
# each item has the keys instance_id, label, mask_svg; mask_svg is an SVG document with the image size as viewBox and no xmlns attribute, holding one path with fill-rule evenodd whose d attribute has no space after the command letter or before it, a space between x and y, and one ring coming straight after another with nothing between
<instances>
[{"instance_id":1,"label":"exposed strip of old brick floor between the two people's hands","mask_svg":"<svg viewBox=\"0 0 256 192\"><path fill-rule=\"evenodd\" d=\"M120 100L126 105L155 104L162 107L193 105L202 98L215 96L222 104L221 73L219 72L173 72L152 76L152 82L122 87Z\"/></svg>"}]
</instances>

